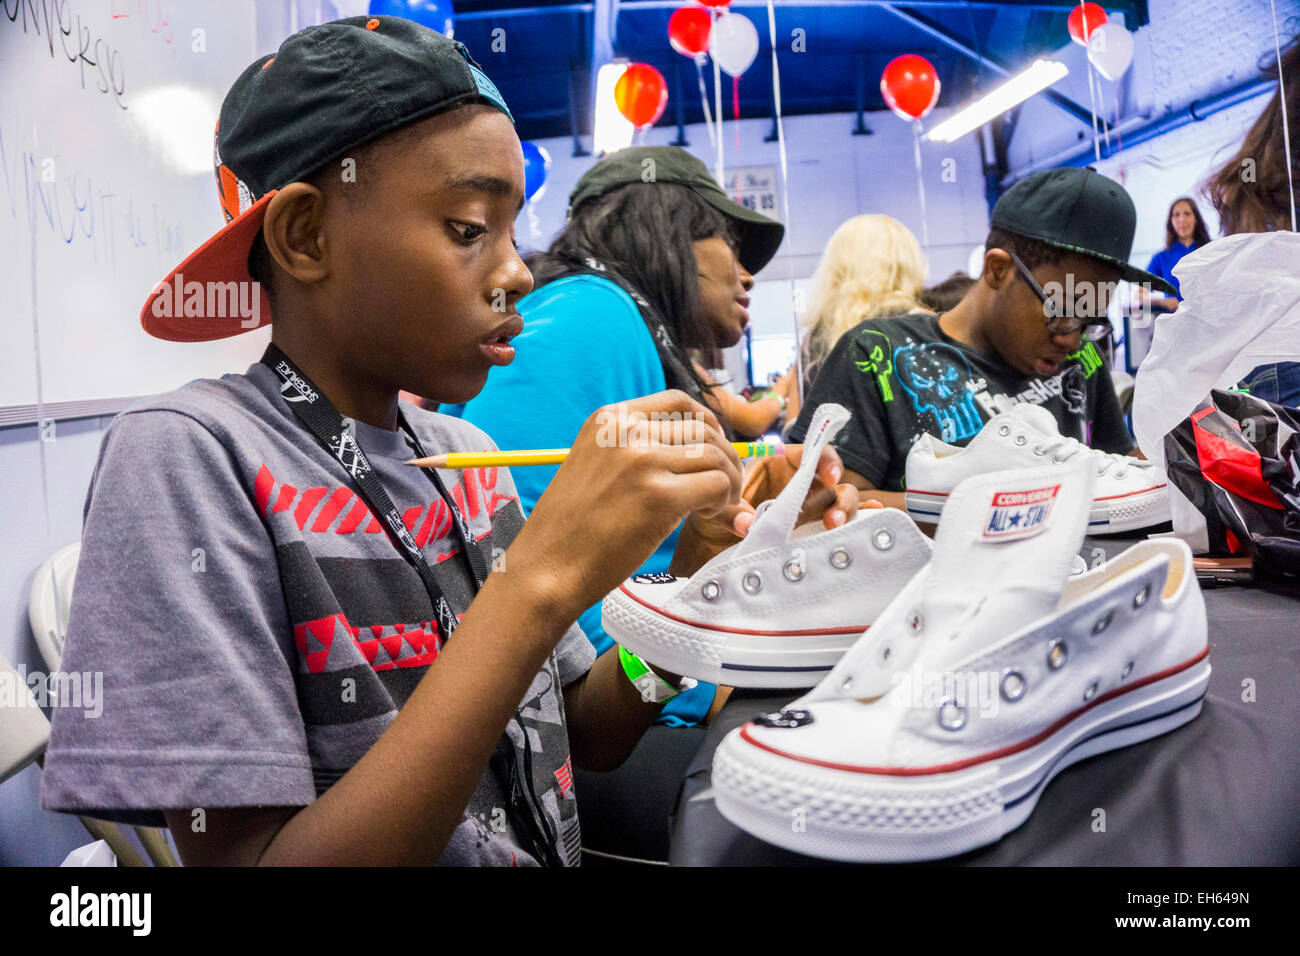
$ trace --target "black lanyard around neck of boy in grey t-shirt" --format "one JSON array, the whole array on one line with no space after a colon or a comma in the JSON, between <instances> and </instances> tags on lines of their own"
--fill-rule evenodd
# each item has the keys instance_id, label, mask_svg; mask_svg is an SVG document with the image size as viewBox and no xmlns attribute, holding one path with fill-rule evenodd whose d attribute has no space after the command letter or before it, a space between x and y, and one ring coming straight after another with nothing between
<instances>
[{"instance_id":1,"label":"black lanyard around neck of boy in grey t-shirt","mask_svg":"<svg viewBox=\"0 0 1300 956\"><path fill-rule=\"evenodd\" d=\"M459 623L456 613L451 609L451 604L447 601L446 594L443 594L442 587L434 579L433 568L429 567L424 551L411 536L406 522L402 520L402 514L385 490L384 483L374 473L374 467L365 457L361 446L356 444L356 437L347 429L343 416L339 415L330 401L312 384L311 378L303 375L302 369L276 343L272 342L266 346L266 351L261 356L261 363L280 378L281 398L294 410L294 415L316 437L316 441L343 466L343 470L356 483L361 498L380 516L380 523L387 531L393 546L396 548L398 553L420 575L425 591L429 592L429 601L433 602L433 611L438 618L438 627L442 630L442 641L446 643L450 640L451 632L456 630L456 624ZM428 455L425 455L424 449L420 446L420 440L400 410L398 411L398 425L406 432L407 445L411 446L416 457L426 458ZM468 566L473 591L477 594L488 579L488 562L484 559L478 542L474 541L469 523L460 514L460 509L456 507L452 497L447 494L447 488L442 484L442 477L433 468L421 468L421 471L433 483L433 486L438 490L438 496L451 510L451 523L460 544L462 559ZM555 835L550 821L541 808L541 800L538 800L537 793L533 791L528 730L524 727L517 710L514 719L519 723L519 730L524 735L524 760L529 766L520 770L515 745L508 734L502 734L500 740L497 741L497 756L489 762L489 766L498 778L498 783L510 803L508 810L514 818L516 834L533 844L533 855L540 861L550 866L556 866L560 865L560 860L555 852Z\"/></svg>"}]
</instances>

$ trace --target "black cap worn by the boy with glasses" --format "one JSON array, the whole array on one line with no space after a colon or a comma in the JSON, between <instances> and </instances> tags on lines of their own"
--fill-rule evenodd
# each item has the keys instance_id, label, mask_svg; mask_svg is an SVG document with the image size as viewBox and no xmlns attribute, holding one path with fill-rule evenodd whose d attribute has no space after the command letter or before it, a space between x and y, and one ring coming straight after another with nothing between
<instances>
[{"instance_id":1,"label":"black cap worn by the boy with glasses","mask_svg":"<svg viewBox=\"0 0 1300 956\"><path fill-rule=\"evenodd\" d=\"M1046 169L1011 186L993 207L992 226L1108 263L1128 282L1174 286L1128 264L1138 211L1128 191L1095 169Z\"/></svg>"}]
</instances>

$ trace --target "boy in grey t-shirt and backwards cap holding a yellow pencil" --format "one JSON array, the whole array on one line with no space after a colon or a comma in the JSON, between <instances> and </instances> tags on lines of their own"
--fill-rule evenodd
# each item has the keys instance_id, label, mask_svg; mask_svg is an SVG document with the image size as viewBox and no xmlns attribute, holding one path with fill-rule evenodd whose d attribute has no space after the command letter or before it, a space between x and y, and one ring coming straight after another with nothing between
<instances>
[{"instance_id":1,"label":"boy in grey t-shirt and backwards cap holding a yellow pencil","mask_svg":"<svg viewBox=\"0 0 1300 956\"><path fill-rule=\"evenodd\" d=\"M504 470L404 464L491 447L398 390L465 401L512 358L511 124L462 44L399 18L311 27L235 82L228 225L142 323L238 334L191 284L257 280L272 346L104 438L64 663L105 672L105 706L55 711L43 806L169 826L186 864L577 862L572 762L616 766L672 687L593 665L573 620L685 514L748 522L680 393L629 403L694 415L640 447L597 447L593 416L526 524Z\"/></svg>"}]
</instances>

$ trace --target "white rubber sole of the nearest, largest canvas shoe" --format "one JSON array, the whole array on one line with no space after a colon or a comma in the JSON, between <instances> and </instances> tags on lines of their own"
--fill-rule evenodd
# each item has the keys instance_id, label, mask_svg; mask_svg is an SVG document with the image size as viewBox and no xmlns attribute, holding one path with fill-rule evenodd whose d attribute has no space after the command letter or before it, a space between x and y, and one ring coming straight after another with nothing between
<instances>
[{"instance_id":1,"label":"white rubber sole of the nearest, largest canvas shoe","mask_svg":"<svg viewBox=\"0 0 1300 956\"><path fill-rule=\"evenodd\" d=\"M950 857L1024 823L1052 778L1072 763L1192 721L1209 675L1201 657L1086 710L1034 747L950 773L832 769L772 753L736 731L714 754L714 797L732 823L797 853L844 862Z\"/></svg>"}]
</instances>

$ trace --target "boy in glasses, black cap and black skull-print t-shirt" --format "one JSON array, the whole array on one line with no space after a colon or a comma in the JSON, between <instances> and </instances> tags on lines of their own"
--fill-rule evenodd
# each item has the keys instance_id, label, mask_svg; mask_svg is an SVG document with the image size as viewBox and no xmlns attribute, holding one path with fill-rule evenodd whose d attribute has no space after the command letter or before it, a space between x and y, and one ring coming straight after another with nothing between
<instances>
[{"instance_id":1,"label":"boy in glasses, black cap and black skull-print t-shirt","mask_svg":"<svg viewBox=\"0 0 1300 956\"><path fill-rule=\"evenodd\" d=\"M907 451L923 433L966 445L1018 402L1045 407L1067 437L1140 454L1093 345L1110 332L1117 280L1169 290L1128 264L1132 199L1091 169L1052 169L1008 190L991 225L984 271L962 300L845 333L789 429L802 441L823 402L852 410L835 438L845 477L889 507L905 507Z\"/></svg>"}]
</instances>

